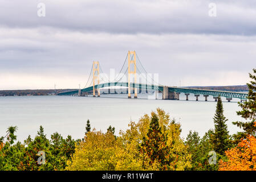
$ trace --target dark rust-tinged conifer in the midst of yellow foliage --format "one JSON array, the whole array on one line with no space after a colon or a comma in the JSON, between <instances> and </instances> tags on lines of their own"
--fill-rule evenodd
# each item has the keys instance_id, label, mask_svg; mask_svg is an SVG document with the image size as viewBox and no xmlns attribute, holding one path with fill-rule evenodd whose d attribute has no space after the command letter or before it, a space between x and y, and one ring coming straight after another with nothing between
<instances>
[{"instance_id":1,"label":"dark rust-tinged conifer in the midst of yellow foliage","mask_svg":"<svg viewBox=\"0 0 256 182\"><path fill-rule=\"evenodd\" d=\"M143 138L140 151L150 160L149 164L155 161L160 164L161 170L169 168L169 152L170 148L166 144L167 136L162 133L159 126L159 118L154 113L151 118L147 138Z\"/></svg>"}]
</instances>

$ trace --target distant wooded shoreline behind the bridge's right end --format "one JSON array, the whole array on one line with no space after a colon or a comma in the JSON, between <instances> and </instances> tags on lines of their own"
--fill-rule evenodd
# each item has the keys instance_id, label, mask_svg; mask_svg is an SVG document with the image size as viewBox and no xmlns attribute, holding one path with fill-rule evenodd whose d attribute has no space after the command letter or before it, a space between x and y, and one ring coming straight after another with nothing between
<instances>
[{"instance_id":1,"label":"distant wooded shoreline behind the bridge's right end","mask_svg":"<svg viewBox=\"0 0 256 182\"><path fill-rule=\"evenodd\" d=\"M230 92L248 92L247 85L234 85L234 86L188 86L194 89L207 89L207 90L221 90Z\"/></svg>"}]
</instances>

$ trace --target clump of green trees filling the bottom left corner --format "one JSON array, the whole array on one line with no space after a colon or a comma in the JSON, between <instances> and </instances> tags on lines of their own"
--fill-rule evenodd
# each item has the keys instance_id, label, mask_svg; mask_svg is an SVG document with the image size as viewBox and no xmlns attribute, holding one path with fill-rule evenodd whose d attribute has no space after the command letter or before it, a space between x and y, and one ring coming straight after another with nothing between
<instances>
[{"instance_id":1,"label":"clump of green trees filling the bottom left corner","mask_svg":"<svg viewBox=\"0 0 256 182\"><path fill-rule=\"evenodd\" d=\"M14 131L14 130L11 130ZM15 138L10 135L10 138ZM46 138L44 129L40 129L34 139L29 137L23 142L11 145L7 140L0 148L0 171L1 170L64 170L67 160L75 152L75 140L68 136L67 139L54 133L51 140ZM38 164L39 151L45 154L45 164ZM42 152L41 152L42 153Z\"/></svg>"}]
</instances>

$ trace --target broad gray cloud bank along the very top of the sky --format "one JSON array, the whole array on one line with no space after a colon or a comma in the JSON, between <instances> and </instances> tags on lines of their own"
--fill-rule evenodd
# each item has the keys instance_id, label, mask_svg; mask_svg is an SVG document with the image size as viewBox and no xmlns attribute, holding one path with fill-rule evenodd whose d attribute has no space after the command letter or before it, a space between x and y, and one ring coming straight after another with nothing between
<instances>
[{"instance_id":1,"label":"broad gray cloud bank along the very top of the sky","mask_svg":"<svg viewBox=\"0 0 256 182\"><path fill-rule=\"evenodd\" d=\"M46 4L46 17L36 14ZM209 3L217 17L208 15ZM65 28L113 34L255 35L254 1L0 1L0 22L7 27Z\"/></svg>"}]
</instances>

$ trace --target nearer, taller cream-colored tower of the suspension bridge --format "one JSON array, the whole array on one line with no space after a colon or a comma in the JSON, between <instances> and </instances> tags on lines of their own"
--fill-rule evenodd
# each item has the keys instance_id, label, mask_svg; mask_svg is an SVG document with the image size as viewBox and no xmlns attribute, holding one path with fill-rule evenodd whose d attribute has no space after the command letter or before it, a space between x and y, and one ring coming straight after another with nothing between
<instances>
[{"instance_id":1,"label":"nearer, taller cream-colored tower of the suspension bridge","mask_svg":"<svg viewBox=\"0 0 256 182\"><path fill-rule=\"evenodd\" d=\"M131 64L133 64L133 71L131 71ZM136 52L135 51L128 51L128 98L132 98L131 86L130 86L131 74L134 75L134 83L136 84ZM134 88L134 98L137 98L137 88Z\"/></svg>"}]
</instances>

